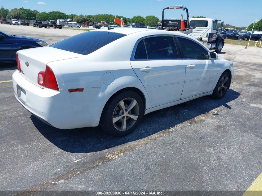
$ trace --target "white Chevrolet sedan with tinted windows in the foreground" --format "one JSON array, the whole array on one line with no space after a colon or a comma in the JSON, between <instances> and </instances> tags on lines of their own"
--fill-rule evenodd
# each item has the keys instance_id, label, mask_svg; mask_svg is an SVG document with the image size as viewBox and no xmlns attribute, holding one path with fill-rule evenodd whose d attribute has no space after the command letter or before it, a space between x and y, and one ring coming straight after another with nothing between
<instances>
[{"instance_id":1,"label":"white Chevrolet sedan with tinted windows in the foreground","mask_svg":"<svg viewBox=\"0 0 262 196\"><path fill-rule=\"evenodd\" d=\"M103 58L102 58L103 57ZM124 136L142 115L206 95L223 98L233 63L183 33L100 29L17 52L18 102L61 129Z\"/></svg>"}]
</instances>

